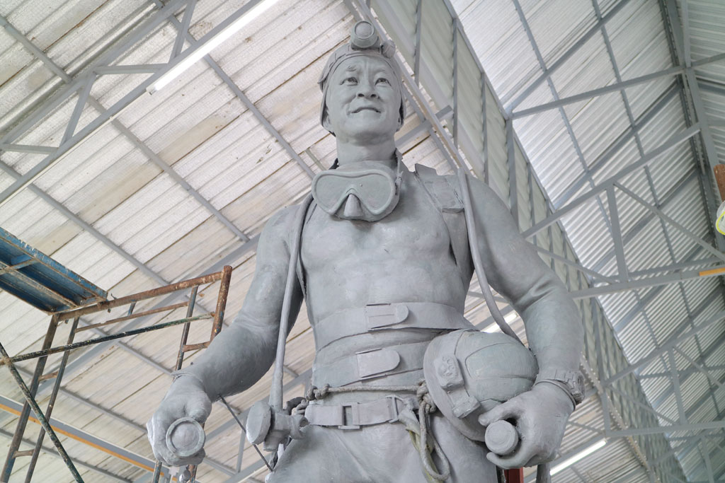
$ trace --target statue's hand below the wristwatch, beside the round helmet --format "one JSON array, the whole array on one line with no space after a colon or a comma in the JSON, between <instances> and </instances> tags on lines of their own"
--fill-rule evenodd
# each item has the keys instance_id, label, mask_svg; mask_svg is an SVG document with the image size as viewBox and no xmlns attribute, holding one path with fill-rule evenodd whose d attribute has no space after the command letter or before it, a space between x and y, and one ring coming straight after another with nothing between
<instances>
[{"instance_id":1,"label":"statue's hand below the wristwatch, beside the round helmet","mask_svg":"<svg viewBox=\"0 0 725 483\"><path fill-rule=\"evenodd\" d=\"M489 452L489 461L504 469L547 463L554 458L573 404L566 393L546 383L502 403L481 416L479 422L489 426L494 421L515 420L519 444L513 453L500 456Z\"/></svg>"}]
</instances>

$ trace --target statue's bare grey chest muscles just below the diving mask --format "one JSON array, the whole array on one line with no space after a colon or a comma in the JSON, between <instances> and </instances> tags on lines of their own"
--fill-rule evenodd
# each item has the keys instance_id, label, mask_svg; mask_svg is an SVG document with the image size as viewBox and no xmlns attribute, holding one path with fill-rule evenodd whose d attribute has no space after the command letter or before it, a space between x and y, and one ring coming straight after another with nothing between
<instances>
[{"instance_id":1,"label":"statue's bare grey chest muscles just below the diving mask","mask_svg":"<svg viewBox=\"0 0 725 483\"><path fill-rule=\"evenodd\" d=\"M309 270L355 259L394 262L447 253L447 228L422 190L404 187L394 211L378 222L339 219L315 207L302 235L303 264Z\"/></svg>"}]
</instances>

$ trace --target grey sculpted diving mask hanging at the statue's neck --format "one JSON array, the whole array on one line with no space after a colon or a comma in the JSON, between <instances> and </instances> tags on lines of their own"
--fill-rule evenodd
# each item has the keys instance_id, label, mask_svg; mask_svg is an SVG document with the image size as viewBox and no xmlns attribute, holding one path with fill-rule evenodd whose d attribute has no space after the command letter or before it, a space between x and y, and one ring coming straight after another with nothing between
<instances>
[{"instance_id":1,"label":"grey sculpted diving mask hanging at the statue's neck","mask_svg":"<svg viewBox=\"0 0 725 483\"><path fill-rule=\"evenodd\" d=\"M360 161L318 173L312 180L312 196L321 209L341 219L377 222L398 203L402 161L397 169L379 161Z\"/></svg>"}]
</instances>

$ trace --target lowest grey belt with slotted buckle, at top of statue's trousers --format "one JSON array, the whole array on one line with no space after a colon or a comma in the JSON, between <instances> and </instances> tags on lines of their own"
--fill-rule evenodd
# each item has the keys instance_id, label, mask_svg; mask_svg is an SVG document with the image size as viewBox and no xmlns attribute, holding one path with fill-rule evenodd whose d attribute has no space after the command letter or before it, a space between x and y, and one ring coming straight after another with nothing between
<instances>
[{"instance_id":1,"label":"lowest grey belt with slotted buckle, at top of statue's trousers","mask_svg":"<svg viewBox=\"0 0 725 483\"><path fill-rule=\"evenodd\" d=\"M417 406L410 400L413 407ZM323 406L311 404L305 409L305 419L316 426L334 426L338 429L360 429L372 424L394 423L406 406L400 398L388 396L369 403L350 403Z\"/></svg>"}]
</instances>

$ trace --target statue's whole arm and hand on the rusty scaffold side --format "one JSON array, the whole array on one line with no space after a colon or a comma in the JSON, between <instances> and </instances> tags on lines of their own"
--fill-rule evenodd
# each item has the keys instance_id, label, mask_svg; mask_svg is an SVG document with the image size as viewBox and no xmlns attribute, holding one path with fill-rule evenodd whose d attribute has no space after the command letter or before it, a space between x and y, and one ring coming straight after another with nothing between
<instances>
[{"instance_id":1,"label":"statue's whole arm and hand on the rusty scaffold side","mask_svg":"<svg viewBox=\"0 0 725 483\"><path fill-rule=\"evenodd\" d=\"M164 400L146 424L154 455L159 460L174 466L202 461L203 450L182 459L170 453L165 444L167 428L186 416L203 423L211 412L212 401L246 390L270 369L276 354L296 211L297 206L278 211L266 224L257 245L254 279L241 311L193 364L177 373ZM301 304L302 290L295 277L290 327Z\"/></svg>"}]
</instances>

